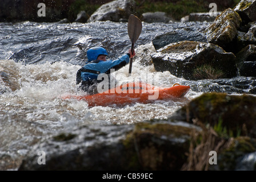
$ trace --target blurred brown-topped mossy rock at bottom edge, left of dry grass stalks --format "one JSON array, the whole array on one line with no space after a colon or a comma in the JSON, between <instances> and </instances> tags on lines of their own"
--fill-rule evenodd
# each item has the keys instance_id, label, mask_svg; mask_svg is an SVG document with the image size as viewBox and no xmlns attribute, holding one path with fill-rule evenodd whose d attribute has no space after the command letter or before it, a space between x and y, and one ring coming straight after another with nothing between
<instances>
[{"instance_id":1,"label":"blurred brown-topped mossy rock at bottom edge, left of dry grass stalks","mask_svg":"<svg viewBox=\"0 0 256 182\"><path fill-rule=\"evenodd\" d=\"M180 170L187 160L194 129L167 123L139 123L134 129L135 148L146 170Z\"/></svg>"}]
</instances>

